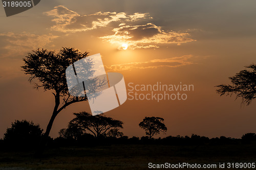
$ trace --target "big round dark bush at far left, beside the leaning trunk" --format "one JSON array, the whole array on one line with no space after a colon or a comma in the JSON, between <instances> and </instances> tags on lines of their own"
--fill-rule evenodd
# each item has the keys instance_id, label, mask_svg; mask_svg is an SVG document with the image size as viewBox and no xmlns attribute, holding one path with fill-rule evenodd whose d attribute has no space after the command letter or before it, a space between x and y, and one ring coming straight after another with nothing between
<instances>
[{"instance_id":1,"label":"big round dark bush at far left, beside the leaning trunk","mask_svg":"<svg viewBox=\"0 0 256 170\"><path fill-rule=\"evenodd\" d=\"M38 124L27 120L15 120L11 128L6 130L4 141L13 147L34 146L41 139L42 131Z\"/></svg>"}]
</instances>

